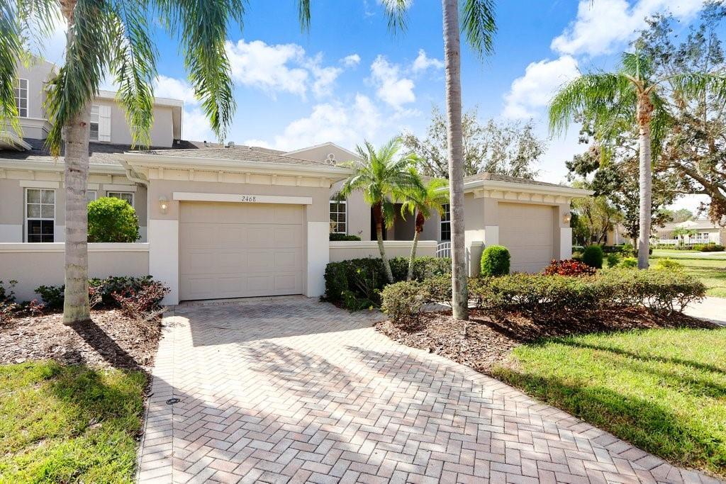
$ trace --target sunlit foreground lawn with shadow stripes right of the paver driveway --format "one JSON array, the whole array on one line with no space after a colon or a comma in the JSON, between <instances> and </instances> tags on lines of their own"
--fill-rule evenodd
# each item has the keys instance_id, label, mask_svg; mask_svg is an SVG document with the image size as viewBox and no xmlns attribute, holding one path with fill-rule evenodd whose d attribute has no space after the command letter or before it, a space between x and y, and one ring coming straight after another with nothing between
<instances>
[{"instance_id":1,"label":"sunlit foreground lawn with shadow stripes right of the paver driveway","mask_svg":"<svg viewBox=\"0 0 726 484\"><path fill-rule=\"evenodd\" d=\"M501 380L674 464L726 477L726 328L555 338Z\"/></svg>"}]
</instances>

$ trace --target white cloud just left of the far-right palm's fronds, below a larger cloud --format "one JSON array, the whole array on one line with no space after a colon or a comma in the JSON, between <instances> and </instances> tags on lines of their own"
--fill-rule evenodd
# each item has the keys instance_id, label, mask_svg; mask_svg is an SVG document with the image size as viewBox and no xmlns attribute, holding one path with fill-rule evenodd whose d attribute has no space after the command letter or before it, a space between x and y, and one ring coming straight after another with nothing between
<instances>
[{"instance_id":1,"label":"white cloud just left of the far-right palm's fronds, below a larger cloud","mask_svg":"<svg viewBox=\"0 0 726 484\"><path fill-rule=\"evenodd\" d=\"M547 105L555 91L579 75L574 57L541 60L527 66L524 75L512 83L505 95L502 115L506 118L531 118Z\"/></svg>"}]
</instances>

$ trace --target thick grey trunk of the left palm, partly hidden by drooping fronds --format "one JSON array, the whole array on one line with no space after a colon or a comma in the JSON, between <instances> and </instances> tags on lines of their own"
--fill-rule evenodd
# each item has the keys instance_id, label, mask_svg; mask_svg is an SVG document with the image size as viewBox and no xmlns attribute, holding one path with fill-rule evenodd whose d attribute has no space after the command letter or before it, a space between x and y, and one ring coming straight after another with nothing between
<instances>
[{"instance_id":1,"label":"thick grey trunk of the left palm, partly hidden by drooping fronds","mask_svg":"<svg viewBox=\"0 0 726 484\"><path fill-rule=\"evenodd\" d=\"M75 0L61 2L68 21L67 46L73 42ZM88 212L86 184L89 176L90 105L66 124L65 131L65 300L63 323L91 319L88 289Z\"/></svg>"}]
</instances>

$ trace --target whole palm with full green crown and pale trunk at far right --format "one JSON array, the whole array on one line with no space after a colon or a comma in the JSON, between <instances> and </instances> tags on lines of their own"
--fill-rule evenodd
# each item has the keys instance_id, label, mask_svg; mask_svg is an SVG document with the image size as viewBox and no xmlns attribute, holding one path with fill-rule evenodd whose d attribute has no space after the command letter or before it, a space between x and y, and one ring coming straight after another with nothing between
<instances>
[{"instance_id":1,"label":"whole palm with full green crown and pale trunk at far right","mask_svg":"<svg viewBox=\"0 0 726 484\"><path fill-rule=\"evenodd\" d=\"M693 99L707 90L726 97L726 77L720 73L656 72L653 60L640 49L625 52L621 67L613 73L590 72L563 86L550 102L550 131L566 131L568 123L584 115L594 121L596 138L603 144L603 161L619 146L624 131L637 128L640 184L638 268L648 268L652 212L653 151L659 154L661 139L671 122L664 89L672 86L674 97ZM608 144L611 146L608 147Z\"/></svg>"}]
</instances>

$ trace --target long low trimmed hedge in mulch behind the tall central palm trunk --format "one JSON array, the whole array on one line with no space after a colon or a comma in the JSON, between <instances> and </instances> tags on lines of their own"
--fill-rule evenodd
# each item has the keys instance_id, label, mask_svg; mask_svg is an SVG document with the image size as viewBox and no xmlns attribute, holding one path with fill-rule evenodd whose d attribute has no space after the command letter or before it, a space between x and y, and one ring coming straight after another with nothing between
<instances>
[{"instance_id":1,"label":"long low trimmed hedge in mulch behind the tall central palm trunk","mask_svg":"<svg viewBox=\"0 0 726 484\"><path fill-rule=\"evenodd\" d=\"M645 306L682 311L705 292L703 283L684 271L614 268L591 276L511 274L469 281L470 298L477 308L495 316L515 311L545 320L572 310ZM410 324L417 321L423 305L450 300L450 293L450 281L446 294L440 285L427 281L399 282L383 290L382 308L394 323Z\"/></svg>"}]
</instances>

